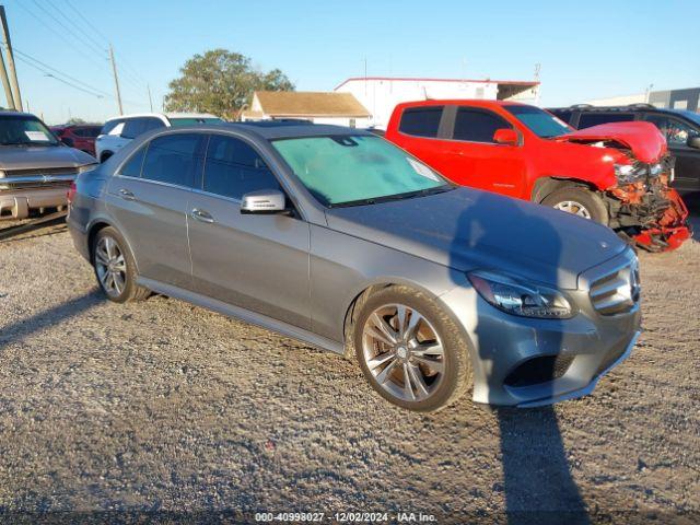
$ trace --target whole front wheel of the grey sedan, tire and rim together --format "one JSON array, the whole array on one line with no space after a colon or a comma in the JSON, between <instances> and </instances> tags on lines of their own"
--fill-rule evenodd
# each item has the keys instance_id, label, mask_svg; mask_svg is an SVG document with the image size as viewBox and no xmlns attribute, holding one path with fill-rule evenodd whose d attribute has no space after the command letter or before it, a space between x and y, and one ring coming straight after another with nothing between
<instances>
[{"instance_id":1,"label":"whole front wheel of the grey sedan, tire and rim together","mask_svg":"<svg viewBox=\"0 0 700 525\"><path fill-rule=\"evenodd\" d=\"M435 412L464 395L471 384L469 351L455 323L433 299L408 287L387 287L359 303L352 345L362 373L382 397L409 410ZM404 330L398 330L399 307L406 308ZM377 318L398 342L389 345L385 332L380 334L384 341L374 337ZM413 320L418 324L411 330Z\"/></svg>"}]
</instances>

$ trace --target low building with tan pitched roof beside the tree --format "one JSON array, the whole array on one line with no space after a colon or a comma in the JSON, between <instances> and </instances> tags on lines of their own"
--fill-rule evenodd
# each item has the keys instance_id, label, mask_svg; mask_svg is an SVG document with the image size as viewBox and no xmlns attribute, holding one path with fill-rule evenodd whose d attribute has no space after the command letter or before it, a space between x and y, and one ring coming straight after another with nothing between
<instances>
[{"instance_id":1,"label":"low building with tan pitched roof beside the tree","mask_svg":"<svg viewBox=\"0 0 700 525\"><path fill-rule=\"evenodd\" d=\"M351 93L256 91L241 120L301 119L315 124L366 127L371 115Z\"/></svg>"}]
</instances>

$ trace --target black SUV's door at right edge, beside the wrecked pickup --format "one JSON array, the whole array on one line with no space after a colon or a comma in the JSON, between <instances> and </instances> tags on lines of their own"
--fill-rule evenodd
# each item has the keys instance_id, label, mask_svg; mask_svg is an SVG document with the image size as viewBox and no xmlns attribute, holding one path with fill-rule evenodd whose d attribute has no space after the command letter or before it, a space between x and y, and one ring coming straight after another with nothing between
<instances>
[{"instance_id":1,"label":"black SUV's door at right edge, beside the wrecked pickup","mask_svg":"<svg viewBox=\"0 0 700 525\"><path fill-rule=\"evenodd\" d=\"M672 186L682 194L700 191L700 150L688 145L690 138L700 137L700 126L664 114L648 114L645 120L666 137L668 150L676 158Z\"/></svg>"}]
</instances>

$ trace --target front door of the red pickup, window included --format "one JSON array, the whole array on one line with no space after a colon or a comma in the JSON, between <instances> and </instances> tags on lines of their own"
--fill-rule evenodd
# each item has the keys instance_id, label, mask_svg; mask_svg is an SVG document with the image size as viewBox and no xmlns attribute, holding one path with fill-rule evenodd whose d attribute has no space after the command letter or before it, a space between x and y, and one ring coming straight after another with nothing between
<instances>
[{"instance_id":1,"label":"front door of the red pickup, window included","mask_svg":"<svg viewBox=\"0 0 700 525\"><path fill-rule=\"evenodd\" d=\"M525 178L522 144L499 144L493 140L498 129L513 129L502 116L480 107L450 106L451 158L456 183L474 188L521 197Z\"/></svg>"}]
</instances>

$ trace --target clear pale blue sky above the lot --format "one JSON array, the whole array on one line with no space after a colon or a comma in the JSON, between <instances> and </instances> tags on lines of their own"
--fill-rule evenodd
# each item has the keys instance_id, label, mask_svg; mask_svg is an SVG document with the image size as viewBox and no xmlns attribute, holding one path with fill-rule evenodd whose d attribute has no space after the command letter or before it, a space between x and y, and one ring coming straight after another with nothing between
<instances>
[{"instance_id":1,"label":"clear pale blue sky above the lot","mask_svg":"<svg viewBox=\"0 0 700 525\"><path fill-rule=\"evenodd\" d=\"M301 91L362 77L365 61L369 75L499 80L532 80L539 63L544 106L643 93L650 84L700 86L698 0L0 3L25 110L28 103L49 125L118 114L109 44L125 113L150 109L148 86L160 110L185 61L219 47L262 70L281 69Z\"/></svg>"}]
</instances>

